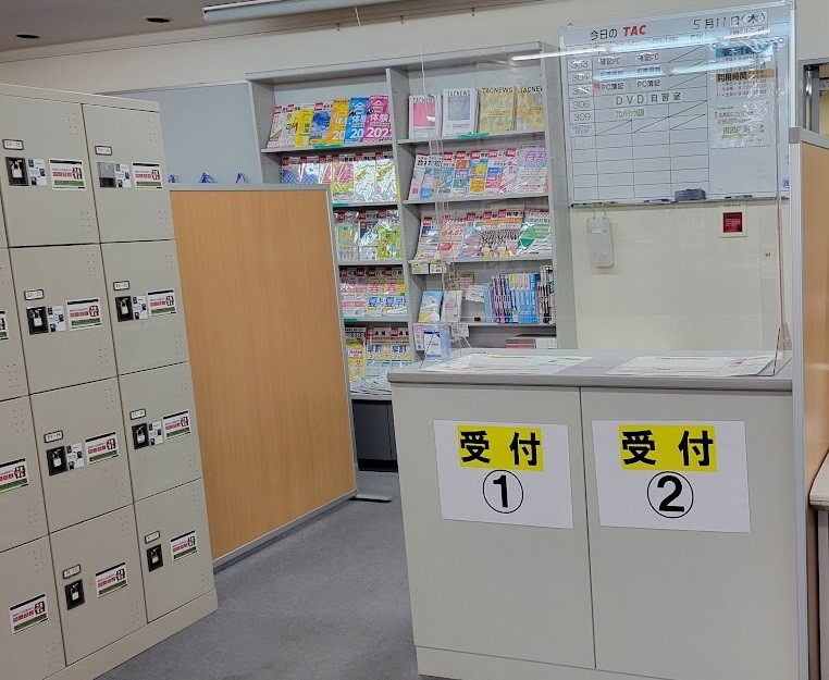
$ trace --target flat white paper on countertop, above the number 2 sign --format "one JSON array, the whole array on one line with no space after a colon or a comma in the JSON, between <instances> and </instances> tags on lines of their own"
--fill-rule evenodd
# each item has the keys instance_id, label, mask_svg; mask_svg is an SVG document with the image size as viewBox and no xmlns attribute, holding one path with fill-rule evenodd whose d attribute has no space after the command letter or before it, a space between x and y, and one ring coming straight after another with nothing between
<instances>
[{"instance_id":1,"label":"flat white paper on countertop, above the number 2 sign","mask_svg":"<svg viewBox=\"0 0 829 680\"><path fill-rule=\"evenodd\" d=\"M733 378L757 375L775 355L756 357L636 357L607 371L607 375L675 375L679 378Z\"/></svg>"}]
</instances>

